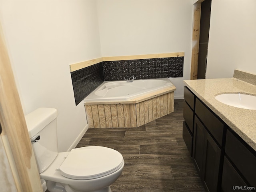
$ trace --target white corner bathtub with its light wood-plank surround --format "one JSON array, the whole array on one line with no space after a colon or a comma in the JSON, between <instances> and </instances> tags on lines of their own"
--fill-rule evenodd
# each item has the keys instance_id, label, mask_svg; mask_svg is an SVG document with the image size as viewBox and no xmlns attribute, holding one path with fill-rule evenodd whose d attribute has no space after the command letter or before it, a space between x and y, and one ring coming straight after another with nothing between
<instances>
[{"instance_id":1,"label":"white corner bathtub with its light wood-plank surround","mask_svg":"<svg viewBox=\"0 0 256 192\"><path fill-rule=\"evenodd\" d=\"M174 111L168 79L106 81L84 99L89 128L138 127Z\"/></svg>"}]
</instances>

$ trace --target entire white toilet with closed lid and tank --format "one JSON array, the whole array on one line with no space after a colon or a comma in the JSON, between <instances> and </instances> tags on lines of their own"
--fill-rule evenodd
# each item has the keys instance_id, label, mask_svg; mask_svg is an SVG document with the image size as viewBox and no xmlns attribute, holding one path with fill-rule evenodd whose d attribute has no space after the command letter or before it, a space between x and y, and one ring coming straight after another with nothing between
<instances>
[{"instance_id":1,"label":"entire white toilet with closed lid and tank","mask_svg":"<svg viewBox=\"0 0 256 192\"><path fill-rule=\"evenodd\" d=\"M38 108L25 116L39 175L48 191L111 192L110 185L124 168L122 154L102 146L58 152L57 116L54 108Z\"/></svg>"}]
</instances>

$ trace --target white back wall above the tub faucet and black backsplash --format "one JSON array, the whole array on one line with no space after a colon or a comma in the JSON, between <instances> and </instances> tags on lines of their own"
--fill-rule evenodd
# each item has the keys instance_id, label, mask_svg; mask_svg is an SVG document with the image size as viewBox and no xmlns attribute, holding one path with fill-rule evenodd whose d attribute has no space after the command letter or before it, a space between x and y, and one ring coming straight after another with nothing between
<instances>
[{"instance_id":1,"label":"white back wall above the tub faucet and black backsplash","mask_svg":"<svg viewBox=\"0 0 256 192\"><path fill-rule=\"evenodd\" d=\"M176 98L190 79L191 0L98 0L102 56L185 52L184 78L174 78Z\"/></svg>"}]
</instances>

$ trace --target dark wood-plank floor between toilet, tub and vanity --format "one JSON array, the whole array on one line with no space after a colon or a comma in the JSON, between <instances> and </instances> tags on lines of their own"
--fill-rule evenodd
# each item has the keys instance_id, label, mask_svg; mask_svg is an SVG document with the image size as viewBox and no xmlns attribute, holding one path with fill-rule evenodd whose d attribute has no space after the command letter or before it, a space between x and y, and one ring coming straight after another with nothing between
<instances>
[{"instance_id":1,"label":"dark wood-plank floor between toilet, tub and vanity","mask_svg":"<svg viewBox=\"0 0 256 192\"><path fill-rule=\"evenodd\" d=\"M138 128L88 129L77 145L106 146L124 157L112 192L204 192L182 138L184 100L174 112Z\"/></svg>"}]
</instances>

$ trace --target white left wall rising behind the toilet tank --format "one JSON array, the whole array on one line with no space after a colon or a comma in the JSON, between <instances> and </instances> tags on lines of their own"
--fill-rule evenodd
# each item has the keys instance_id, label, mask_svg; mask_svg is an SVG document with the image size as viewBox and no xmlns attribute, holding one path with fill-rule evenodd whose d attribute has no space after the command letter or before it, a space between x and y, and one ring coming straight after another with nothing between
<instances>
[{"instance_id":1,"label":"white left wall rising behind the toilet tank","mask_svg":"<svg viewBox=\"0 0 256 192\"><path fill-rule=\"evenodd\" d=\"M0 0L0 19L24 114L56 108L59 150L68 150L87 125L69 64L101 57L96 1Z\"/></svg>"}]
</instances>

